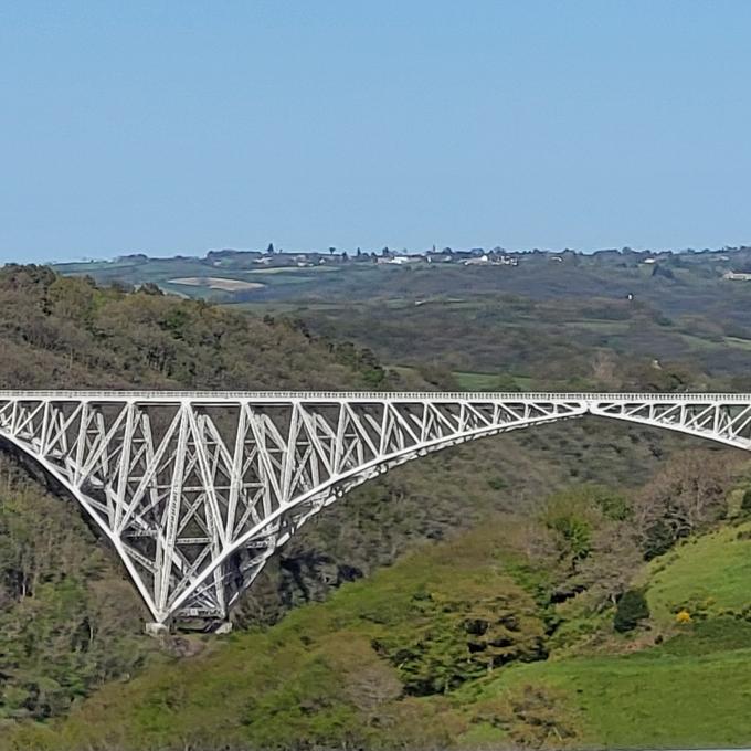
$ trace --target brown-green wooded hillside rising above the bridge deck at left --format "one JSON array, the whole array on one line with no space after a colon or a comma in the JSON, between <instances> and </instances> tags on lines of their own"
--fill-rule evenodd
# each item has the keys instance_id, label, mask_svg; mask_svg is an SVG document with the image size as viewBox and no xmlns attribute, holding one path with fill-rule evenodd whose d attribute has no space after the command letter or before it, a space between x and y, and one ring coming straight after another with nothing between
<instances>
[{"instance_id":1,"label":"brown-green wooded hillside rising above the bridge deck at left","mask_svg":"<svg viewBox=\"0 0 751 751\"><path fill-rule=\"evenodd\" d=\"M368 352L290 325L41 266L0 272L0 337L4 388L388 388Z\"/></svg>"}]
</instances>

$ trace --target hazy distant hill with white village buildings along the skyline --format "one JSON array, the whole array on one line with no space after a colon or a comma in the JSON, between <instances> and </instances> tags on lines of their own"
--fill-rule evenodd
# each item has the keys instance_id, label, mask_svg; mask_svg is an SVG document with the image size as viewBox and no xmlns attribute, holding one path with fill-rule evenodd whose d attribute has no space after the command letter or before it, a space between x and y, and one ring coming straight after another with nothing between
<instances>
[{"instance_id":1,"label":"hazy distant hill with white village buildings along the skyline","mask_svg":"<svg viewBox=\"0 0 751 751\"><path fill-rule=\"evenodd\" d=\"M331 252L273 253L223 250L210 251L204 257L171 258L150 258L137 253L115 261L59 264L54 268L64 275L88 275L102 284L152 283L167 292L220 303L278 304L321 298L356 300L363 295L403 296L408 289L417 297L467 289L512 292L537 299L603 293L650 297L655 294L655 284L662 283L657 287L660 290L669 281L695 287L717 282L723 273L750 264L751 248L748 247L698 253L623 248L592 254L574 251L509 254L501 248L446 248L410 255L388 248L372 253L331 248ZM425 274L427 271L431 273ZM186 278L191 281L186 283ZM235 284L222 289L216 279Z\"/></svg>"}]
</instances>

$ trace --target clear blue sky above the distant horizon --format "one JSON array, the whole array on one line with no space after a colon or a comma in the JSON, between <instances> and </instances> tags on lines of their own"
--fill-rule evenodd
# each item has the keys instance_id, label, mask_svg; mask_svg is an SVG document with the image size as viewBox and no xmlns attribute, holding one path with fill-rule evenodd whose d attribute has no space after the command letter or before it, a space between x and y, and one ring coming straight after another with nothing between
<instances>
[{"instance_id":1,"label":"clear blue sky above the distant horizon","mask_svg":"<svg viewBox=\"0 0 751 751\"><path fill-rule=\"evenodd\" d=\"M0 261L751 243L751 2L0 3Z\"/></svg>"}]
</instances>

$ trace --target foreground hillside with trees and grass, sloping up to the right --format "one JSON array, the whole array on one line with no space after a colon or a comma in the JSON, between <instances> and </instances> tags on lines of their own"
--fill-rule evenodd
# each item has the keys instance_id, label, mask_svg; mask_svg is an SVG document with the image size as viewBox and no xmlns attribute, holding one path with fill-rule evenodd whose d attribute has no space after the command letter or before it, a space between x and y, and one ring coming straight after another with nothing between
<instances>
[{"instance_id":1,"label":"foreground hillside with trees and grass, sloping up to the right","mask_svg":"<svg viewBox=\"0 0 751 751\"><path fill-rule=\"evenodd\" d=\"M267 631L110 683L62 722L19 726L6 745L747 743L739 458L689 452L628 494L575 485L535 514L489 516Z\"/></svg>"}]
</instances>

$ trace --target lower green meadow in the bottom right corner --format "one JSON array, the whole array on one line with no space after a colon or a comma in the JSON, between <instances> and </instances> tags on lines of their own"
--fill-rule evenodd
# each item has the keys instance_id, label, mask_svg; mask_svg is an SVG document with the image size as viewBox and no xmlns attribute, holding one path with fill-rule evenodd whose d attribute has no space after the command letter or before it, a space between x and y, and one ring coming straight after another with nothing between
<instances>
[{"instance_id":1,"label":"lower green meadow in the bottom right corner","mask_svg":"<svg viewBox=\"0 0 751 751\"><path fill-rule=\"evenodd\" d=\"M700 655L655 648L514 667L480 699L527 686L554 689L585 747L731 748L751 740L750 673L749 647Z\"/></svg>"}]
</instances>

